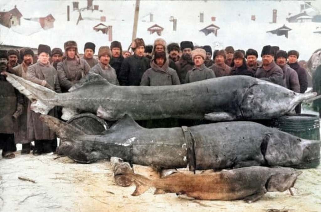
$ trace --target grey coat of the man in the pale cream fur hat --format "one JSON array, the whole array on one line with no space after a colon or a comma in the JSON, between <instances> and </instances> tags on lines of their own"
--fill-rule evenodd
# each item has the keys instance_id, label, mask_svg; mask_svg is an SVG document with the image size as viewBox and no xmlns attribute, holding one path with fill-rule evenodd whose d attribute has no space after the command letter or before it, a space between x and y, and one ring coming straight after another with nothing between
<instances>
[{"instance_id":1,"label":"grey coat of the man in the pale cream fur hat","mask_svg":"<svg viewBox=\"0 0 321 212\"><path fill-rule=\"evenodd\" d=\"M193 83L196 81L206 80L214 78L214 72L207 68L205 64L200 67L194 67L192 70L189 70L186 74L185 83Z\"/></svg>"}]
</instances>

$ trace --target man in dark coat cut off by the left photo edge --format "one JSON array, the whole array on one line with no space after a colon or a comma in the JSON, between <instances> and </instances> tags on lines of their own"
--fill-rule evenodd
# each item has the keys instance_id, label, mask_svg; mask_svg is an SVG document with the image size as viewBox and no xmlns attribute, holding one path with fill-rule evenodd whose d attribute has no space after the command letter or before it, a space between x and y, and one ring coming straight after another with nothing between
<instances>
[{"instance_id":1,"label":"man in dark coat cut off by the left photo edge","mask_svg":"<svg viewBox=\"0 0 321 212\"><path fill-rule=\"evenodd\" d=\"M2 157L11 159L16 151L12 149L16 119L21 115L23 106L22 95L6 80L7 65L7 51L0 50L0 144Z\"/></svg>"}]
</instances>

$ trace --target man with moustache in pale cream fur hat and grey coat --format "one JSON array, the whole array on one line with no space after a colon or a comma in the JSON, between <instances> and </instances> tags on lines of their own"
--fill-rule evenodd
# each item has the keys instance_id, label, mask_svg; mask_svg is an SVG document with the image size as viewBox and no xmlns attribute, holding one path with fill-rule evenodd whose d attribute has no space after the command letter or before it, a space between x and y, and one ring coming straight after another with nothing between
<instances>
[{"instance_id":1,"label":"man with moustache in pale cream fur hat and grey coat","mask_svg":"<svg viewBox=\"0 0 321 212\"><path fill-rule=\"evenodd\" d=\"M192 51L192 59L195 67L187 72L185 83L192 83L215 77L214 72L205 66L205 58L206 52L204 49L194 49Z\"/></svg>"}]
</instances>

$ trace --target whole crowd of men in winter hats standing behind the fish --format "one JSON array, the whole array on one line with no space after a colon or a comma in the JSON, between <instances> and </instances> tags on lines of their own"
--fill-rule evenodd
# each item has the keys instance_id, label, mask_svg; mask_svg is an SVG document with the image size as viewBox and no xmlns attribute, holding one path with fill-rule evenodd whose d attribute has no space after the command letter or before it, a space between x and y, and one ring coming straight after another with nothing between
<instances>
[{"instance_id":1,"label":"whole crowd of men in winter hats standing behind the fish","mask_svg":"<svg viewBox=\"0 0 321 212\"><path fill-rule=\"evenodd\" d=\"M67 41L62 49L40 44L38 59L32 49L22 48L0 51L0 143L3 158L13 158L15 144L22 144L21 154L54 152L57 147L55 133L39 119L40 114L30 110L31 102L6 80L6 72L18 75L55 92L68 92L89 72L101 75L109 83L121 86L178 85L228 75L248 75L279 84L298 93L307 90L305 70L299 66L299 52L284 51L264 46L262 64L257 62L254 49L234 50L229 46L212 52L210 46L194 47L192 41L170 43L159 38L145 48L144 40L136 38L130 46L134 52L122 50L118 41L110 47L101 46L98 59L94 58L96 46L84 45L84 55L79 56L75 41ZM50 59L51 58L51 59ZM21 64L18 64L21 59ZM51 63L50 63L51 61ZM236 78L237 80L237 78ZM296 112L300 113L299 106ZM58 107L49 115L60 118Z\"/></svg>"}]
</instances>

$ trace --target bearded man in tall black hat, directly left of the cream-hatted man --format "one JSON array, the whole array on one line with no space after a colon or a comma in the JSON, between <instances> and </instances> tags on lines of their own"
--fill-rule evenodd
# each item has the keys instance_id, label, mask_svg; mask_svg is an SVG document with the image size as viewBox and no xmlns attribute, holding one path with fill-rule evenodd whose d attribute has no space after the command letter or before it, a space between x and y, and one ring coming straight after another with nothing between
<instances>
[{"instance_id":1,"label":"bearded man in tall black hat, directly left of the cream-hatted man","mask_svg":"<svg viewBox=\"0 0 321 212\"><path fill-rule=\"evenodd\" d=\"M194 45L192 41L182 41L180 43L180 49L182 51L182 57L175 62L177 67L177 75L181 84L185 83L186 74L189 70L194 68L194 62L192 61L192 49Z\"/></svg>"}]
</instances>

